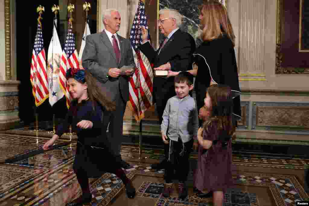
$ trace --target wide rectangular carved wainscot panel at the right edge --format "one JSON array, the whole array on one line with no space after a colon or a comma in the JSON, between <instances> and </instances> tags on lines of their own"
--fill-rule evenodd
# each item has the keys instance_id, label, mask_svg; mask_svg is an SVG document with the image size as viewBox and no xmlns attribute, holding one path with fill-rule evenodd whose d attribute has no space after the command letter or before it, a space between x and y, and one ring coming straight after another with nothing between
<instances>
[{"instance_id":1,"label":"wide rectangular carved wainscot panel at the right edge","mask_svg":"<svg viewBox=\"0 0 309 206\"><path fill-rule=\"evenodd\" d=\"M309 107L256 107L256 126L309 128Z\"/></svg>"}]
</instances>

